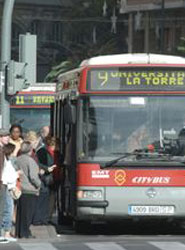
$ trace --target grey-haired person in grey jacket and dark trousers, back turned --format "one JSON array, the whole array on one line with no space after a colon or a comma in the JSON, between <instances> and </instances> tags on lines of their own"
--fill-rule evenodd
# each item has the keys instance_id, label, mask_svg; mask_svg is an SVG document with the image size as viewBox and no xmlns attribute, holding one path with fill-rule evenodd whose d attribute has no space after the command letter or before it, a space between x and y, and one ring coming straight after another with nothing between
<instances>
[{"instance_id":1,"label":"grey-haired person in grey jacket and dark trousers, back turned","mask_svg":"<svg viewBox=\"0 0 185 250\"><path fill-rule=\"evenodd\" d=\"M16 236L18 238L33 238L30 225L35 214L35 207L40 191L39 166L31 157L32 146L30 142L23 142L21 155L17 158L17 168L22 170L22 195L18 200L16 218Z\"/></svg>"}]
</instances>

